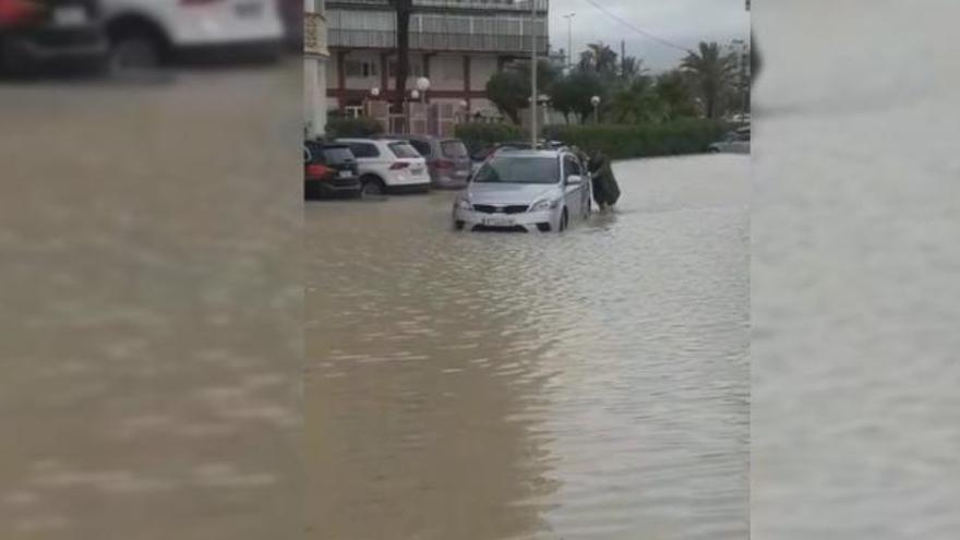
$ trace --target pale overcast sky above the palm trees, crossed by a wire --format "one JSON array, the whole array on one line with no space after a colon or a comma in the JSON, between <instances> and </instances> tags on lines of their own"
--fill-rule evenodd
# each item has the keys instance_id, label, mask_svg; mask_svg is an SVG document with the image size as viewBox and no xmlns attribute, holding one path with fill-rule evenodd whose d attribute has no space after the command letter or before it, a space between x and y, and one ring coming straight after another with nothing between
<instances>
[{"instance_id":1,"label":"pale overcast sky above the palm trees, crossed by a wire","mask_svg":"<svg viewBox=\"0 0 960 540\"><path fill-rule=\"evenodd\" d=\"M749 37L749 13L744 0L595 0L641 29L684 47L701 41L725 44ZM578 56L586 44L603 41L620 53L621 39L626 53L641 58L652 71L670 69L684 52L660 45L609 17L587 0L550 1L550 41L554 50L567 47L567 23L563 15L574 12L573 44Z\"/></svg>"}]
</instances>

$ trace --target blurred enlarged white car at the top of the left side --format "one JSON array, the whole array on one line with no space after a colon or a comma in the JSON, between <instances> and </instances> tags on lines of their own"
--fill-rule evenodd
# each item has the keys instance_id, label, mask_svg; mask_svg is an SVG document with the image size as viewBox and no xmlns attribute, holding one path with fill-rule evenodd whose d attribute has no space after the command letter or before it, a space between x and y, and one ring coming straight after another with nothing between
<instances>
[{"instance_id":1,"label":"blurred enlarged white car at the top of the left side","mask_svg":"<svg viewBox=\"0 0 960 540\"><path fill-rule=\"evenodd\" d=\"M115 69L171 58L276 58L285 28L276 0L100 0Z\"/></svg>"}]
</instances>

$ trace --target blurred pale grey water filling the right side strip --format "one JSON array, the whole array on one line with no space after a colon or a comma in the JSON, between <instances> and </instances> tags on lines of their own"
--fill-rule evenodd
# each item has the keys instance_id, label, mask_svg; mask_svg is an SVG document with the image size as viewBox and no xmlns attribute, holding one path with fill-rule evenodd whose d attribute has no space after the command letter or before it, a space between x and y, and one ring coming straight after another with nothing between
<instances>
[{"instance_id":1,"label":"blurred pale grey water filling the right side strip","mask_svg":"<svg viewBox=\"0 0 960 540\"><path fill-rule=\"evenodd\" d=\"M753 536L960 538L960 3L754 4Z\"/></svg>"}]
</instances>

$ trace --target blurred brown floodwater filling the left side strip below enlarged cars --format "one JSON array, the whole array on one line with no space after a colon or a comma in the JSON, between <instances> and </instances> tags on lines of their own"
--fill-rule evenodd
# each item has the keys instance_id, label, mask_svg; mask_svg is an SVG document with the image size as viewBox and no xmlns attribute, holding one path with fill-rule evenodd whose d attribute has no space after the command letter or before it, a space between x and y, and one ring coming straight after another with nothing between
<instances>
[{"instance_id":1,"label":"blurred brown floodwater filling the left side strip below enlarged cars","mask_svg":"<svg viewBox=\"0 0 960 540\"><path fill-rule=\"evenodd\" d=\"M302 535L298 64L0 85L0 538Z\"/></svg>"}]
</instances>

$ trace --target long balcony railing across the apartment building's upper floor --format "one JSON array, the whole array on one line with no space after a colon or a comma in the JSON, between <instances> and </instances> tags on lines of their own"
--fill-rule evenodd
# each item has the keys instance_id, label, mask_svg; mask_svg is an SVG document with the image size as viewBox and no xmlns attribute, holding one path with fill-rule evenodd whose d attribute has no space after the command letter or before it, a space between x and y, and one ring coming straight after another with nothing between
<instances>
[{"instance_id":1,"label":"long balcony railing across the apartment building's upper floor","mask_svg":"<svg viewBox=\"0 0 960 540\"><path fill-rule=\"evenodd\" d=\"M396 47L393 31L329 29L329 46L338 48L391 49ZM549 50L547 36L537 36L540 53ZM530 52L530 36L500 34L410 33L412 50L455 50L476 52Z\"/></svg>"}]
</instances>

